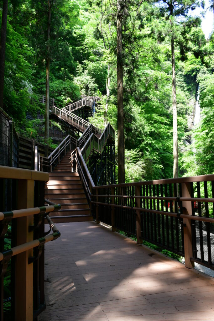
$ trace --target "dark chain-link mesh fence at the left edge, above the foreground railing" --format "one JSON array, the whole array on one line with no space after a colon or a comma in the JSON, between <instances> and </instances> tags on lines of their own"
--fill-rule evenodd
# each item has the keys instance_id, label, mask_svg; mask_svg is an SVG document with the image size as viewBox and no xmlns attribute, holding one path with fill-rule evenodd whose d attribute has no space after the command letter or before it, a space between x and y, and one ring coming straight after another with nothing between
<instances>
[{"instance_id":1,"label":"dark chain-link mesh fence at the left edge, above the foreground railing","mask_svg":"<svg viewBox=\"0 0 214 321\"><path fill-rule=\"evenodd\" d=\"M0 109L0 165L18 167L18 136L13 120Z\"/></svg>"}]
</instances>

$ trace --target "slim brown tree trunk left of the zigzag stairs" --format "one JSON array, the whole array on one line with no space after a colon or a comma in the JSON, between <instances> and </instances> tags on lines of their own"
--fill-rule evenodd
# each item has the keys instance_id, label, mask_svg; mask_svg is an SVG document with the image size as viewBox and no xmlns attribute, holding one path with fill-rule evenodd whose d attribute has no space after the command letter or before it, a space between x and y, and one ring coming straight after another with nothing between
<instances>
[{"instance_id":1,"label":"slim brown tree trunk left of the zigzag stairs","mask_svg":"<svg viewBox=\"0 0 214 321\"><path fill-rule=\"evenodd\" d=\"M50 83L50 20L51 4L48 0L48 19L47 19L47 57L46 57L46 96L45 96L45 143L48 144L49 138L49 83Z\"/></svg>"}]
</instances>

